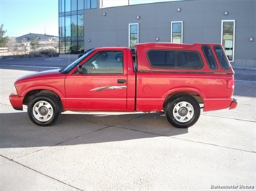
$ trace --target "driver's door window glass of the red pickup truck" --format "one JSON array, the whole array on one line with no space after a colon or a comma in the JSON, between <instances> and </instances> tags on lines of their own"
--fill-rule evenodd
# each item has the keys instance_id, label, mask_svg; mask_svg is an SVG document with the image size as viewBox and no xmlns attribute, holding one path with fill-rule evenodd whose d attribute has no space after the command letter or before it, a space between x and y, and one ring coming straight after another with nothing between
<instances>
[{"instance_id":1,"label":"driver's door window glass of the red pickup truck","mask_svg":"<svg viewBox=\"0 0 256 191\"><path fill-rule=\"evenodd\" d=\"M123 74L122 51L100 51L82 65L82 74Z\"/></svg>"}]
</instances>

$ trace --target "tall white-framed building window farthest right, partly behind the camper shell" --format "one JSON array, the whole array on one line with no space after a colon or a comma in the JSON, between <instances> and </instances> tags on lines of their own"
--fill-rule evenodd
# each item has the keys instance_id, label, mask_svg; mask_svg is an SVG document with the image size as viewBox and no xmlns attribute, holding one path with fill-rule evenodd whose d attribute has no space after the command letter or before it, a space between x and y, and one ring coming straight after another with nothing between
<instances>
[{"instance_id":1,"label":"tall white-framed building window farthest right, partly behind the camper shell","mask_svg":"<svg viewBox=\"0 0 256 191\"><path fill-rule=\"evenodd\" d=\"M221 45L224 47L229 61L234 62L234 33L235 21L221 21Z\"/></svg>"}]
</instances>

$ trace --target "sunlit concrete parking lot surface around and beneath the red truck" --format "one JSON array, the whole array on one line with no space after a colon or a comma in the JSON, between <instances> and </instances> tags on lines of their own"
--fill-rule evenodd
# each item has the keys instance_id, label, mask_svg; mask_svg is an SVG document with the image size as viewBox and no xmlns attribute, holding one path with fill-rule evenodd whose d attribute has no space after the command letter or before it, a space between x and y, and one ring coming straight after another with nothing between
<instances>
[{"instance_id":1,"label":"sunlit concrete parking lot surface around and beneath the red truck","mask_svg":"<svg viewBox=\"0 0 256 191\"><path fill-rule=\"evenodd\" d=\"M70 111L41 127L8 96L17 78L46 69L0 67L0 190L255 190L251 77L236 82L236 109L202 112L189 129L164 113Z\"/></svg>"}]
</instances>

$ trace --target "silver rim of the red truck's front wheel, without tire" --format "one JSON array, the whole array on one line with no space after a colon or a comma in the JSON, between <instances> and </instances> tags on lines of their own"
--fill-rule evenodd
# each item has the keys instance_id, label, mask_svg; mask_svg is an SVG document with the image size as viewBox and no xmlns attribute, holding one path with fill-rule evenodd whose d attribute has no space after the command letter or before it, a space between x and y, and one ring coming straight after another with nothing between
<instances>
[{"instance_id":1,"label":"silver rim of the red truck's front wheel, without tire","mask_svg":"<svg viewBox=\"0 0 256 191\"><path fill-rule=\"evenodd\" d=\"M32 113L38 121L46 122L53 117L53 106L47 101L38 101L33 106Z\"/></svg>"}]
</instances>

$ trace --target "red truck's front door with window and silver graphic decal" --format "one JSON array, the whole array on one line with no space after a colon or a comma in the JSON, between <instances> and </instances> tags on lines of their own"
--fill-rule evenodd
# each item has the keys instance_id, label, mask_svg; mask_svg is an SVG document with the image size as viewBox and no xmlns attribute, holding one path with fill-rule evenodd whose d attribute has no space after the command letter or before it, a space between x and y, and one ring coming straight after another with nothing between
<instances>
[{"instance_id":1,"label":"red truck's front door with window and silver graphic decal","mask_svg":"<svg viewBox=\"0 0 256 191\"><path fill-rule=\"evenodd\" d=\"M66 77L69 110L125 111L127 71L120 50L98 50Z\"/></svg>"}]
</instances>

